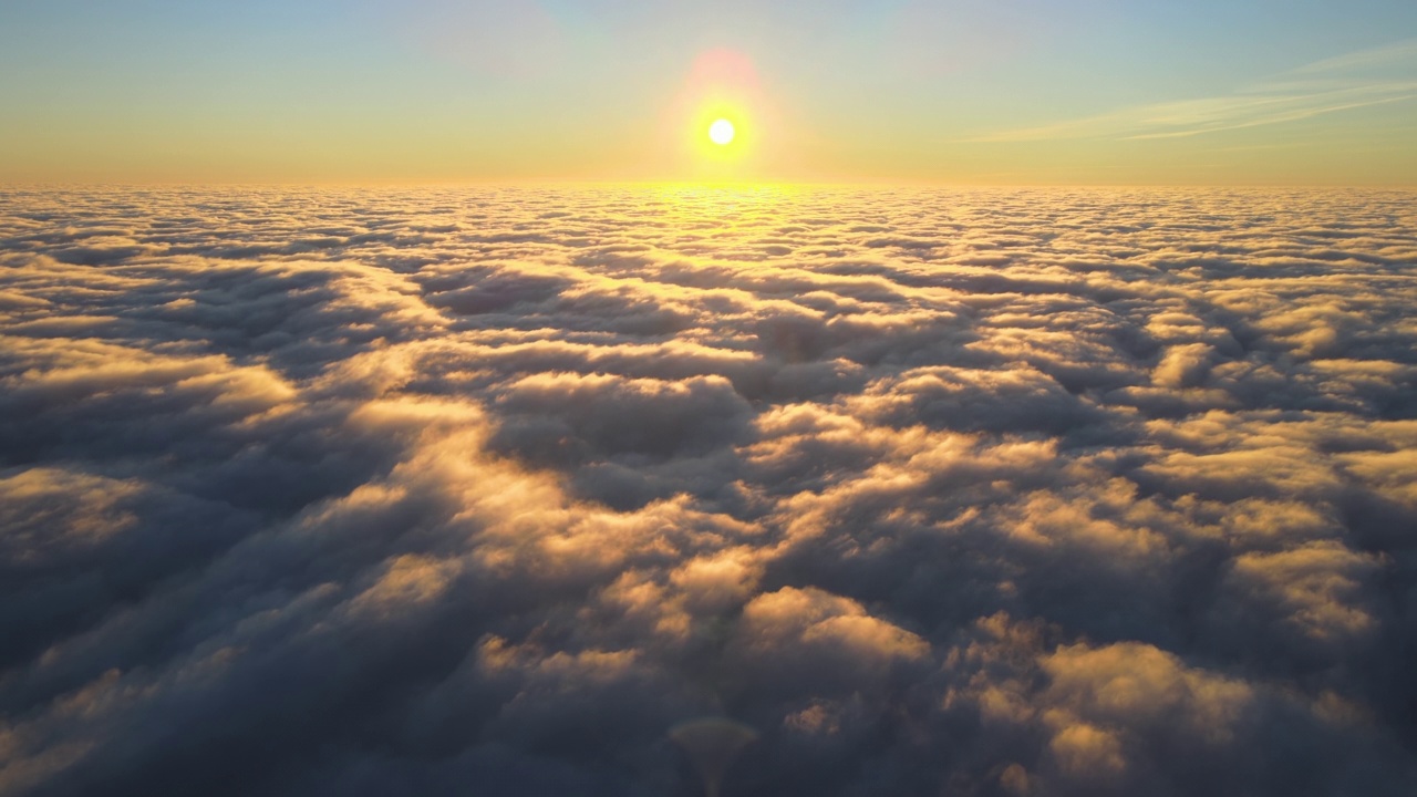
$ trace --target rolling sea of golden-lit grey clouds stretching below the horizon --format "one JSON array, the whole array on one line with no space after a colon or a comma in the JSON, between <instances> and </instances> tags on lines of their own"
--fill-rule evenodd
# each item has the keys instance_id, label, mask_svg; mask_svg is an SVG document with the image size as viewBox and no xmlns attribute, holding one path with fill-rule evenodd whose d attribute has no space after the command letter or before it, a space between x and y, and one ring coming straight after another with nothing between
<instances>
[{"instance_id":1,"label":"rolling sea of golden-lit grey clouds stretching below the horizon","mask_svg":"<svg viewBox=\"0 0 1417 797\"><path fill-rule=\"evenodd\" d=\"M0 191L0 794L1413 794L1414 200Z\"/></svg>"}]
</instances>

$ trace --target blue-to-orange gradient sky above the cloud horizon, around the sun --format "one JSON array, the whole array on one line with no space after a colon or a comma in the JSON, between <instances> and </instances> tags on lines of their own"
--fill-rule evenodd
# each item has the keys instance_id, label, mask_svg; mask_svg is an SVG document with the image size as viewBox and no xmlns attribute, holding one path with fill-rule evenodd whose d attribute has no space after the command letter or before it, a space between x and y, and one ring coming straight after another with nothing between
<instances>
[{"instance_id":1,"label":"blue-to-orange gradient sky above the cloud horizon, around the sun","mask_svg":"<svg viewBox=\"0 0 1417 797\"><path fill-rule=\"evenodd\" d=\"M1414 140L1411 0L0 4L9 183L1414 184Z\"/></svg>"}]
</instances>

